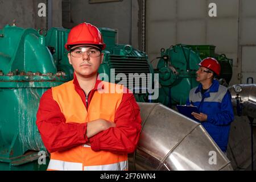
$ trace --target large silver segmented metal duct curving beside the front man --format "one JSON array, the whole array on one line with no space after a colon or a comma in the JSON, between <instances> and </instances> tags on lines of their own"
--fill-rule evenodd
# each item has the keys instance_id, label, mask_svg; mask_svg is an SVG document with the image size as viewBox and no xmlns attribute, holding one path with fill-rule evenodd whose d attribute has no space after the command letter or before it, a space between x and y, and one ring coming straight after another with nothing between
<instances>
[{"instance_id":1,"label":"large silver segmented metal duct curving beside the front man","mask_svg":"<svg viewBox=\"0 0 256 182\"><path fill-rule=\"evenodd\" d=\"M138 104L142 133L137 151L129 157L130 170L233 170L200 123L162 104Z\"/></svg>"}]
</instances>

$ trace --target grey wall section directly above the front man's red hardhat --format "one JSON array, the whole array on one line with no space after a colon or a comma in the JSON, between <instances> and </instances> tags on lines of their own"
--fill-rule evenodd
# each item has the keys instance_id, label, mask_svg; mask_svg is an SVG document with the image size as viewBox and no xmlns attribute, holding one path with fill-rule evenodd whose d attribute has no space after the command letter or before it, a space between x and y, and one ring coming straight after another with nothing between
<instances>
[{"instance_id":1,"label":"grey wall section directly above the front man's red hardhat","mask_svg":"<svg viewBox=\"0 0 256 182\"><path fill-rule=\"evenodd\" d=\"M120 2L89 3L89 1L72 0L71 14L74 24L88 22L97 27L118 30L118 43L139 47L138 22L139 1L124 0Z\"/></svg>"}]
</instances>

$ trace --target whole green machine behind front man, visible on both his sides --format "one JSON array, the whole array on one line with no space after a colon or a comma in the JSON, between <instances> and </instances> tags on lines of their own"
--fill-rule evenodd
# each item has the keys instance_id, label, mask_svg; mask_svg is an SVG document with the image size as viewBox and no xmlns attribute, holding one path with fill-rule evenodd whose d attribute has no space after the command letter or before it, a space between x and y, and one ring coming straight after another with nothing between
<instances>
[{"instance_id":1,"label":"whole green machine behind front man, visible on both his sides","mask_svg":"<svg viewBox=\"0 0 256 182\"><path fill-rule=\"evenodd\" d=\"M100 73L109 81L154 72L146 53L116 44L116 31L110 28L100 31L106 43ZM64 48L68 33L64 28L36 31L9 25L0 30L0 170L47 168L48 153L35 124L36 112L47 89L73 78ZM144 83L137 80L136 84L136 78L129 81L128 88L139 90L137 101L148 101L148 94L142 92Z\"/></svg>"}]
</instances>

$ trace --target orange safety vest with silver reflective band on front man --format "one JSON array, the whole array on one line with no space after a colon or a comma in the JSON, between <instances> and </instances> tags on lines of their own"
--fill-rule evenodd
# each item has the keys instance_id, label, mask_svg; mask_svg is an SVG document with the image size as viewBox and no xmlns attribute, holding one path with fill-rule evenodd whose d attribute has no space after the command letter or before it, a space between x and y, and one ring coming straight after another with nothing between
<instances>
[{"instance_id":1,"label":"orange safety vest with silver reflective band on front man","mask_svg":"<svg viewBox=\"0 0 256 182\"><path fill-rule=\"evenodd\" d=\"M114 122L115 111L122 101L123 87L104 81L101 84L104 84L104 89L94 92L88 111L76 92L73 81L52 88L53 100L59 105L66 123L85 123L99 118ZM116 88L117 92L109 93L113 91L110 88ZM113 154L109 151L95 152L86 144L66 151L52 152L48 165L48 170L119 171L127 169L127 154Z\"/></svg>"}]
</instances>

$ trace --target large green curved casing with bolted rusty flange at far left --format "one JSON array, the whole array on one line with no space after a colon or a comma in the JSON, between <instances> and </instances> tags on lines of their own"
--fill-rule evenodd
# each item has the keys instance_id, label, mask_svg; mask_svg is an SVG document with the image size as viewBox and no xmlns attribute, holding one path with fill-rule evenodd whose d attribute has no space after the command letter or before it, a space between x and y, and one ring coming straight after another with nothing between
<instances>
[{"instance_id":1,"label":"large green curved casing with bolted rusty flange at far left","mask_svg":"<svg viewBox=\"0 0 256 182\"><path fill-rule=\"evenodd\" d=\"M40 170L47 155L35 125L42 94L69 80L47 48L46 31L0 30L0 170ZM39 34L40 33L40 34ZM42 165L39 165L39 163Z\"/></svg>"}]
</instances>

